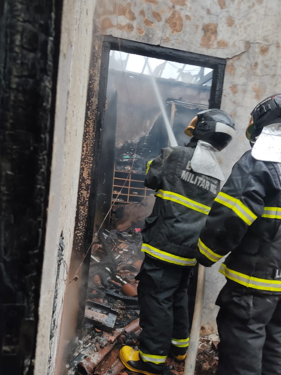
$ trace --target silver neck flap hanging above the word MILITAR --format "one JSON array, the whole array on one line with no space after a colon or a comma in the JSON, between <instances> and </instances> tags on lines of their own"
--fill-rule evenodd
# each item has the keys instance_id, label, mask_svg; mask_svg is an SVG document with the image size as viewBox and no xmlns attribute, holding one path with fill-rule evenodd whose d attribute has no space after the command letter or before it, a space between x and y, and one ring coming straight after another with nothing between
<instances>
[{"instance_id":1,"label":"silver neck flap hanging above the word MILITAR","mask_svg":"<svg viewBox=\"0 0 281 375\"><path fill-rule=\"evenodd\" d=\"M210 177L224 181L224 174L218 165L215 147L205 141L198 141L190 166L194 172L202 173Z\"/></svg>"}]
</instances>

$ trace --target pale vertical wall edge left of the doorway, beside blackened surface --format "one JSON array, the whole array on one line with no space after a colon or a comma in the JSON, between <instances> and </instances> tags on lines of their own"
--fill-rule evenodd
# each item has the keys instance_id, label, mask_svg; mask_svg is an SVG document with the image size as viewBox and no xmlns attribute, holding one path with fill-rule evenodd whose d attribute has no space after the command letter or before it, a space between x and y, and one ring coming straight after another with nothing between
<instances>
[{"instance_id":1,"label":"pale vertical wall edge left of the doorway, beside blackened surface","mask_svg":"<svg viewBox=\"0 0 281 375\"><path fill-rule=\"evenodd\" d=\"M35 374L55 371L75 226L94 7L93 0L63 5Z\"/></svg>"}]
</instances>

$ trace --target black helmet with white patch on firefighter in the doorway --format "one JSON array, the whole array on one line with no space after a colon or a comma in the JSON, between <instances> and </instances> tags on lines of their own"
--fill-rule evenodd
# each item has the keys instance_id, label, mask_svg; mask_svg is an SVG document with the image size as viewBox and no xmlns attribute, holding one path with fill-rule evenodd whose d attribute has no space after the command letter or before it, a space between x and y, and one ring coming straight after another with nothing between
<instances>
[{"instance_id":1,"label":"black helmet with white patch on firefighter in the doorway","mask_svg":"<svg viewBox=\"0 0 281 375\"><path fill-rule=\"evenodd\" d=\"M222 110L209 109L198 112L184 130L188 136L208 142L218 151L223 150L235 134L234 121Z\"/></svg>"}]
</instances>

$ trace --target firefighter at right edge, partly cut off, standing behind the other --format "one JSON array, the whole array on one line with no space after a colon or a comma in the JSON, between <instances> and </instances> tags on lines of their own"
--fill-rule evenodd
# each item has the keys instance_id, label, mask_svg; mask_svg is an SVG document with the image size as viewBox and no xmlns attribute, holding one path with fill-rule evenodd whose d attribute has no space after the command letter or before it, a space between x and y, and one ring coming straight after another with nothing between
<instances>
[{"instance_id":1,"label":"firefighter at right edge, partly cut off, standing behind the other","mask_svg":"<svg viewBox=\"0 0 281 375\"><path fill-rule=\"evenodd\" d=\"M197 260L226 276L216 304L218 375L281 374L281 94L260 102L200 233Z\"/></svg>"}]
</instances>

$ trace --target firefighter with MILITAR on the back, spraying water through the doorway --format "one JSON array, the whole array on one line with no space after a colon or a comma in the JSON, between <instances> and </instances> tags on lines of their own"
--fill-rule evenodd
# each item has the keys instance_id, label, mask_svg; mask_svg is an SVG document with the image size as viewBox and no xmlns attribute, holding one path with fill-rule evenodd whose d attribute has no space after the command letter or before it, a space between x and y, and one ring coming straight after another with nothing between
<instances>
[{"instance_id":1,"label":"firefighter with MILITAR on the back, spraying water through the doorway","mask_svg":"<svg viewBox=\"0 0 281 375\"><path fill-rule=\"evenodd\" d=\"M146 166L145 186L156 190L142 230L145 252L139 280L139 350L125 346L120 359L131 371L161 374L171 349L185 358L189 341L188 279L197 242L223 174L215 158L234 135L232 118L221 110L199 112L185 129L187 147L167 147Z\"/></svg>"}]
</instances>

